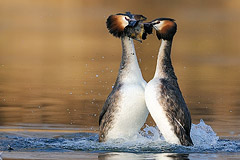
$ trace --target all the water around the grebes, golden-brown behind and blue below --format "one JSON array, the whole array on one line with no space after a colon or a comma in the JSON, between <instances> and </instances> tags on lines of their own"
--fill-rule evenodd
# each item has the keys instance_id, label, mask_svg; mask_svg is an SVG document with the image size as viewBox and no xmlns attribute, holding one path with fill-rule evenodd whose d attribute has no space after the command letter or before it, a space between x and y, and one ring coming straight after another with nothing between
<instances>
[{"instance_id":1,"label":"all the water around the grebes, golden-brown behind and blue below","mask_svg":"<svg viewBox=\"0 0 240 160\"><path fill-rule=\"evenodd\" d=\"M239 159L239 6L235 0L0 1L4 159ZM151 116L130 142L97 142L98 116L121 58L105 20L122 11L176 19L172 60L197 124L194 147L166 144ZM146 81L159 43L155 35L135 42Z\"/></svg>"}]
</instances>

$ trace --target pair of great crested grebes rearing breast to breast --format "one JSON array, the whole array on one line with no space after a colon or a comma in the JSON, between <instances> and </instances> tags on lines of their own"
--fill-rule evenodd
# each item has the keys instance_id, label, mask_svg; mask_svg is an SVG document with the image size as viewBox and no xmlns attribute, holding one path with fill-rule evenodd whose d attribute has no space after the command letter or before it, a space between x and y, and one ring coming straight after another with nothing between
<instances>
[{"instance_id":1,"label":"pair of great crested grebes rearing breast to breast","mask_svg":"<svg viewBox=\"0 0 240 160\"><path fill-rule=\"evenodd\" d=\"M107 19L111 34L122 41L122 60L112 92L99 117L99 141L130 138L138 133L150 112L164 139L191 146L191 115L171 63L171 47L177 24L171 18L143 23L143 15L119 13ZM133 39L142 41L156 30L161 40L153 79L143 79Z\"/></svg>"}]
</instances>

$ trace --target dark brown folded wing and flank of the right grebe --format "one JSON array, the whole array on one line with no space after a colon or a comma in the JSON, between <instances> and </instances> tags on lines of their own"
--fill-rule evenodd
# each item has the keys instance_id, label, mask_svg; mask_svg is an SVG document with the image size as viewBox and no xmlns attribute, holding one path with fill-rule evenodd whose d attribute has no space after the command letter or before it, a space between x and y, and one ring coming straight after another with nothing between
<instances>
[{"instance_id":1,"label":"dark brown folded wing and flank of the right grebe","mask_svg":"<svg viewBox=\"0 0 240 160\"><path fill-rule=\"evenodd\" d=\"M169 122L174 126L174 132L178 136L182 145L193 145L191 130L191 115L184 101L177 81L160 79L159 103L164 106Z\"/></svg>"}]
</instances>

